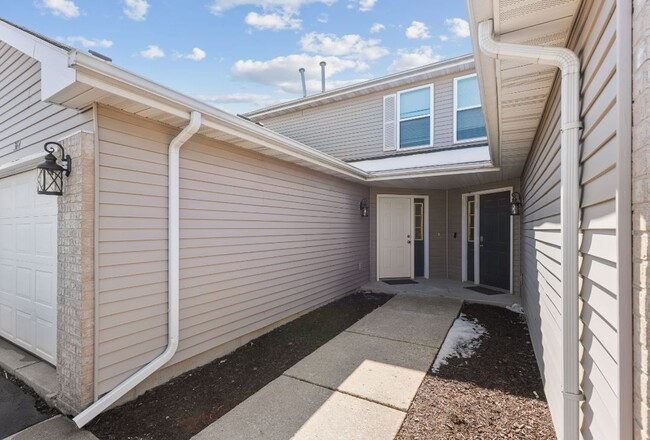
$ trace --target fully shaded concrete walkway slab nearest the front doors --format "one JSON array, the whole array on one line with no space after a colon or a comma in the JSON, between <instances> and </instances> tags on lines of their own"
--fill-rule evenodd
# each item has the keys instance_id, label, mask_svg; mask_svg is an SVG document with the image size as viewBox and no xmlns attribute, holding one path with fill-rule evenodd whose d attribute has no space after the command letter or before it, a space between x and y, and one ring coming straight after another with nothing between
<instances>
[{"instance_id":1,"label":"fully shaded concrete walkway slab nearest the front doors","mask_svg":"<svg viewBox=\"0 0 650 440\"><path fill-rule=\"evenodd\" d=\"M461 305L455 299L398 295L347 331L440 348Z\"/></svg>"}]
</instances>

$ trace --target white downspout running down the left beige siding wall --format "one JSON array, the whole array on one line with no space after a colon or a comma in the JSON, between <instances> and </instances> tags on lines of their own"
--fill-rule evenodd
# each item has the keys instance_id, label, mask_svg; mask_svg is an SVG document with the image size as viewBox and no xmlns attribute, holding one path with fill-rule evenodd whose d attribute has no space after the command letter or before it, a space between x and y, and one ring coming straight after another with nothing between
<instances>
[{"instance_id":1,"label":"white downspout running down the left beige siding wall","mask_svg":"<svg viewBox=\"0 0 650 440\"><path fill-rule=\"evenodd\" d=\"M140 382L165 365L176 353L179 338L179 259L180 259L180 202L179 202L179 157L180 149L201 127L201 113L192 112L190 123L169 144L169 250L168 250L168 311L167 311L167 348L160 356L149 362L141 370L113 388L101 399L79 413L74 422L79 428L97 417L102 411L117 402Z\"/></svg>"}]
</instances>

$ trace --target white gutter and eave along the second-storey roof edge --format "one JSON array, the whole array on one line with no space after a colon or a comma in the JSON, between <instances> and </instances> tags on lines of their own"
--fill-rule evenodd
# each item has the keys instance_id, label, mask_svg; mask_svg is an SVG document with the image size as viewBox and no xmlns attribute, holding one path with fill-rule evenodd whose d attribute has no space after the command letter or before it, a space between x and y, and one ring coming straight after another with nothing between
<instances>
[{"instance_id":1,"label":"white gutter and eave along the second-storey roof edge","mask_svg":"<svg viewBox=\"0 0 650 440\"><path fill-rule=\"evenodd\" d=\"M271 105L245 113L244 116L253 121L259 121L264 118L280 116L286 113L304 110L306 108L316 107L330 102L367 95L369 93L387 90L394 87L407 86L419 81L463 72L472 68L474 68L474 55L462 55L438 61L436 63L426 64L414 69L405 70L403 72L394 73L392 75L386 75L304 98Z\"/></svg>"}]
</instances>

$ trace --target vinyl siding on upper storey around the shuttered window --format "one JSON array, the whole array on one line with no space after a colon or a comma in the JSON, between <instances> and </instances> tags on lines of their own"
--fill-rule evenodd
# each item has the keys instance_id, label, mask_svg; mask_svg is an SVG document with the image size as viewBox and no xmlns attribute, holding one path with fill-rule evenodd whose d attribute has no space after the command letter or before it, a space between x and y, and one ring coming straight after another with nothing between
<instances>
[{"instance_id":1,"label":"vinyl siding on upper storey around the shuttered window","mask_svg":"<svg viewBox=\"0 0 650 440\"><path fill-rule=\"evenodd\" d=\"M383 97L401 90L433 84L433 149L453 146L454 77L474 73L464 70L407 87L387 89L364 96L262 119L267 128L343 160L383 157L400 150L383 151ZM422 151L404 149L402 153Z\"/></svg>"}]
</instances>

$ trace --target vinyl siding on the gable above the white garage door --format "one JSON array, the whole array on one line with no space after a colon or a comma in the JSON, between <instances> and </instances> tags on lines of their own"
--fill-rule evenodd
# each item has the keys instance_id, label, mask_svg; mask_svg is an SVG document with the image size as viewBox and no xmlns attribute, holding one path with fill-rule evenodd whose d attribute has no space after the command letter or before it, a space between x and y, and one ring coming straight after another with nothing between
<instances>
[{"instance_id":1,"label":"vinyl siding on the gable above the white garage door","mask_svg":"<svg viewBox=\"0 0 650 440\"><path fill-rule=\"evenodd\" d=\"M0 42L0 165L82 128L92 130L92 111L41 102L40 63Z\"/></svg>"}]
</instances>

